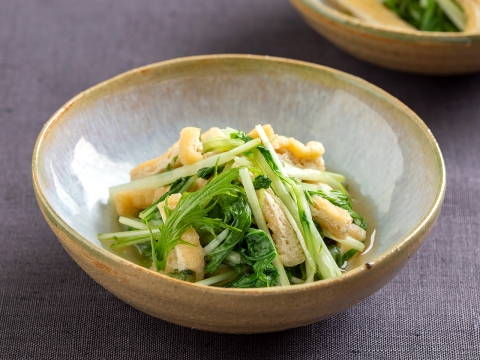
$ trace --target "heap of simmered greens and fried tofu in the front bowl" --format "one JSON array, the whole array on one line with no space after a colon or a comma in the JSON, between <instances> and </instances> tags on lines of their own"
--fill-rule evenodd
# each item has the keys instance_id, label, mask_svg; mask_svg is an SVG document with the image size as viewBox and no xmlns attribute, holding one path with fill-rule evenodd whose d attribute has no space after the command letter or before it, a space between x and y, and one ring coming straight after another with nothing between
<instances>
[{"instance_id":1,"label":"heap of simmered greens and fried tofu in the front bowl","mask_svg":"<svg viewBox=\"0 0 480 360\"><path fill-rule=\"evenodd\" d=\"M184 128L162 156L111 189L125 231L100 234L146 266L202 285L288 286L341 276L367 224L320 142L257 125Z\"/></svg>"}]
</instances>

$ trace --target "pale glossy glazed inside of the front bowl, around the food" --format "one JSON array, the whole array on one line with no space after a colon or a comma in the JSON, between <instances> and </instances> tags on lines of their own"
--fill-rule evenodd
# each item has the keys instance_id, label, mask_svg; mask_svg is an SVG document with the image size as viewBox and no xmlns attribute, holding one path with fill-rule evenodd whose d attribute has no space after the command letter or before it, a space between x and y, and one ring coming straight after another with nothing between
<instances>
[{"instance_id":1,"label":"pale glossy glazed inside of the front bowl, around the food","mask_svg":"<svg viewBox=\"0 0 480 360\"><path fill-rule=\"evenodd\" d=\"M129 181L136 164L162 154L185 126L258 123L321 141L327 169L347 177L354 208L376 230L352 266L399 243L443 186L435 140L382 90L317 65L233 55L154 64L80 94L46 125L34 171L49 208L81 241L102 246L97 233L118 229L108 188Z\"/></svg>"}]
</instances>

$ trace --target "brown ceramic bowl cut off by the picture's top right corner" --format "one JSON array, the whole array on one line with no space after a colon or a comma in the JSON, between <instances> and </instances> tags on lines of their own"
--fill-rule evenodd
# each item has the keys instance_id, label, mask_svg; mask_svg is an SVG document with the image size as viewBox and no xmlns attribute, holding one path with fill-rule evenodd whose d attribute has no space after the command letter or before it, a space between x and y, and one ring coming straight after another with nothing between
<instances>
[{"instance_id":1,"label":"brown ceramic bowl cut off by the picture's top right corner","mask_svg":"<svg viewBox=\"0 0 480 360\"><path fill-rule=\"evenodd\" d=\"M368 24L325 0L290 0L319 34L358 59L393 70L452 75L480 71L480 32L398 30Z\"/></svg>"}]
</instances>

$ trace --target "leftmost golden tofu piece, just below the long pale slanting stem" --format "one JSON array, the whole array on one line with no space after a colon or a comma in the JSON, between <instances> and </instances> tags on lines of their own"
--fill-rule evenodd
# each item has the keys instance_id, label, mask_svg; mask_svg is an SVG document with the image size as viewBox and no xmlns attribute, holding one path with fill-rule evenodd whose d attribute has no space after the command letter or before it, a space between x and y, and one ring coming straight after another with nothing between
<instances>
[{"instance_id":1,"label":"leftmost golden tofu piece, just below the long pale slanting stem","mask_svg":"<svg viewBox=\"0 0 480 360\"><path fill-rule=\"evenodd\" d=\"M135 189L115 194L115 207L120 216L137 217L168 191L167 186L158 189Z\"/></svg>"}]
</instances>

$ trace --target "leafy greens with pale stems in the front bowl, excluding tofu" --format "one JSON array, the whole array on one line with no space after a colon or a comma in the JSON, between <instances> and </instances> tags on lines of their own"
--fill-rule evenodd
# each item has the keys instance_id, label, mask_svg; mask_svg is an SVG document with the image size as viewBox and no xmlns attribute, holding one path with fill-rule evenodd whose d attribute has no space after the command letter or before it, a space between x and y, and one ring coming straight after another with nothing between
<instances>
[{"instance_id":1,"label":"leafy greens with pale stems in the front bowl, excluding tofu","mask_svg":"<svg viewBox=\"0 0 480 360\"><path fill-rule=\"evenodd\" d=\"M422 1L429 4L429 0ZM313 204L311 196L321 196L347 210L355 223L366 229L365 220L353 211L348 192L339 183L345 181L344 176L300 169L280 161L264 129L260 125L255 129L259 139L227 128L224 133L229 134L229 138L222 135L203 143L204 152L215 151L216 155L179 168L175 168L175 157L165 173L111 188L113 196L120 190L170 184L169 191L140 213L139 218L119 218L119 222L131 231L99 234L98 239L120 251L133 246L138 250L139 255L136 252L134 255L142 266L150 267L153 262L157 271L161 271L165 270L168 255L176 245L196 246L182 240L182 235L193 228L203 247L203 254L199 256L206 262L207 277L197 282L200 285L288 286L341 275L340 267L357 250L362 251L363 243L348 237L336 239L322 230L312 218L309 202ZM258 175L253 181L251 173ZM188 189L198 178L208 180L207 185L189 193ZM318 189L313 181L328 181L340 190ZM305 253L305 261L301 264L286 269L281 263L262 213L266 193L255 191L261 189L271 189L280 199L279 207ZM167 200L176 193L182 196L172 210ZM165 222L158 209L162 201L165 201L165 214L162 211ZM346 253L342 255L343 251ZM183 281L196 281L192 270L175 270L168 275Z\"/></svg>"}]
</instances>

